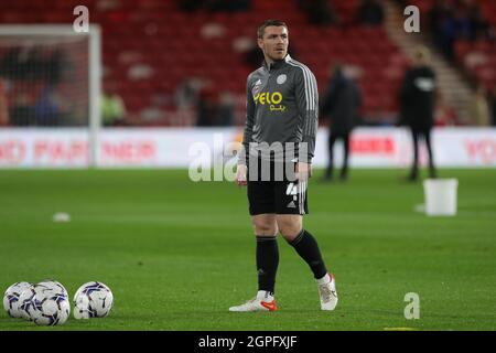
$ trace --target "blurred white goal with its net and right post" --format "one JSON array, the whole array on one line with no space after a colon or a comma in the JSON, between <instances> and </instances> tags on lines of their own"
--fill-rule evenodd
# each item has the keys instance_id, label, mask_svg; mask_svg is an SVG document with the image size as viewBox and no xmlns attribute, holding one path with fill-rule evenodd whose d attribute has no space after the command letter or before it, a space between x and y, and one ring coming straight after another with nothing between
<instances>
[{"instance_id":1,"label":"blurred white goal with its net and right post","mask_svg":"<svg viewBox=\"0 0 496 353\"><path fill-rule=\"evenodd\" d=\"M95 164L100 51L97 25L0 25L0 126L87 127Z\"/></svg>"}]
</instances>

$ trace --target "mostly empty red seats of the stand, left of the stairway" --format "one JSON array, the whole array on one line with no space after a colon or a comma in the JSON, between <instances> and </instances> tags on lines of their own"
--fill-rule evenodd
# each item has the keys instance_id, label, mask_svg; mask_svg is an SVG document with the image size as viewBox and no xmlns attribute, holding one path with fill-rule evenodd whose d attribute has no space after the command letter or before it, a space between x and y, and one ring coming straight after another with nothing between
<instances>
[{"instance_id":1,"label":"mostly empty red seats of the stand, left of the stairway","mask_svg":"<svg viewBox=\"0 0 496 353\"><path fill-rule=\"evenodd\" d=\"M2 23L72 23L80 1L36 0L0 2ZM255 43L257 26L269 18L290 26L290 53L315 73L321 93L335 62L355 67L364 92L364 116L396 114L397 89L407 61L380 26L355 24L359 1L334 1L341 26L309 23L295 1L254 0L250 11L185 13L175 1L84 1L89 19L103 28L105 84L122 96L139 125L191 125L177 119L174 93L188 77L207 79L217 93L236 95L236 124L244 122L245 83L252 69L234 43ZM154 120L143 111L163 111ZM184 115L185 113L181 113ZM194 113L190 113L194 114ZM174 117L174 118L171 118ZM172 121L173 120L173 121Z\"/></svg>"}]
</instances>

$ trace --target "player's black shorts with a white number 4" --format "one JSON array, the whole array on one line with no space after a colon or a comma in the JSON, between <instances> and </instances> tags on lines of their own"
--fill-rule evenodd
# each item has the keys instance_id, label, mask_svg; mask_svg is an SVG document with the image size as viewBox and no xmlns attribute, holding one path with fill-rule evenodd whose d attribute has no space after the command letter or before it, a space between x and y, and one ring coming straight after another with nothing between
<instances>
[{"instance_id":1,"label":"player's black shorts with a white number 4","mask_svg":"<svg viewBox=\"0 0 496 353\"><path fill-rule=\"evenodd\" d=\"M289 162L283 164L270 162L270 173L267 172L267 175L262 173L261 165L263 164L259 162L258 175L250 174L250 168L248 168L248 203L250 215L265 213L308 214L308 181L300 182L295 180L295 163ZM279 172L276 172L277 170ZM282 172L280 172L281 170Z\"/></svg>"}]
</instances>

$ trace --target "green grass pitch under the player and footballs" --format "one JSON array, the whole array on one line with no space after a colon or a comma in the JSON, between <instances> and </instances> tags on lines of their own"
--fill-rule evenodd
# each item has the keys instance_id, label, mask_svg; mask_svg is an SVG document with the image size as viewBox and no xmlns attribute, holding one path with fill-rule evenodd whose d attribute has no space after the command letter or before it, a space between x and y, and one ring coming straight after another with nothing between
<instances>
[{"instance_id":1,"label":"green grass pitch under the player and footballs","mask_svg":"<svg viewBox=\"0 0 496 353\"><path fill-rule=\"evenodd\" d=\"M108 318L37 328L0 313L0 330L495 330L496 170L460 180L456 217L427 217L406 171L353 170L310 184L305 228L337 278L321 312L310 269L282 238L279 311L231 313L256 291L246 189L193 183L185 170L0 171L0 289L54 278L73 296L99 280ZM56 212L69 223L54 223ZM403 315L420 297L420 319Z\"/></svg>"}]
</instances>

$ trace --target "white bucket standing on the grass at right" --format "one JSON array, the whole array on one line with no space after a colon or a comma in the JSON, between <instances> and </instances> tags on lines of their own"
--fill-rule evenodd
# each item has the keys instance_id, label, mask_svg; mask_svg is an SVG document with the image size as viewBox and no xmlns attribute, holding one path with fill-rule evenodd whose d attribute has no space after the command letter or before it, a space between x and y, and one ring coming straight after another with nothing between
<instances>
[{"instance_id":1,"label":"white bucket standing on the grass at right","mask_svg":"<svg viewBox=\"0 0 496 353\"><path fill-rule=\"evenodd\" d=\"M457 179L425 179L423 193L428 216L454 216L456 214Z\"/></svg>"}]
</instances>

